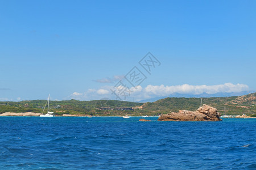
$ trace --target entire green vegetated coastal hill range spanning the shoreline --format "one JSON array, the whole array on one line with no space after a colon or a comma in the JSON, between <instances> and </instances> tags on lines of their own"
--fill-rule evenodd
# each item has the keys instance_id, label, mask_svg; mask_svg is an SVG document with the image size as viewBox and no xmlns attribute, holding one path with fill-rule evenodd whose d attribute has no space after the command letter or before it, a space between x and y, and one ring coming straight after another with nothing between
<instances>
[{"instance_id":1,"label":"entire green vegetated coastal hill range spanning the shoreline","mask_svg":"<svg viewBox=\"0 0 256 170\"><path fill-rule=\"evenodd\" d=\"M256 93L233 97L209 97L203 98L203 104L217 108L221 114L255 114ZM2 101L0 113L5 112L35 112L42 113L46 100L30 101ZM155 102L136 103L118 100L63 100L51 101L49 108L55 114L90 114L93 116L133 116L159 115L179 110L195 111L200 106L200 98L167 97Z\"/></svg>"}]
</instances>

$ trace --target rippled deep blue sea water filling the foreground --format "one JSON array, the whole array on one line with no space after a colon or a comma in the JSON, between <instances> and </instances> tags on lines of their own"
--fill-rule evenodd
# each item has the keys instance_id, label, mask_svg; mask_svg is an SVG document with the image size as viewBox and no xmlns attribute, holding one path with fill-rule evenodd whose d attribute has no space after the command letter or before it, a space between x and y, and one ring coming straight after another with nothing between
<instances>
[{"instance_id":1,"label":"rippled deep blue sea water filling the foreground","mask_svg":"<svg viewBox=\"0 0 256 170\"><path fill-rule=\"evenodd\" d=\"M0 169L256 169L256 118L0 117Z\"/></svg>"}]
</instances>

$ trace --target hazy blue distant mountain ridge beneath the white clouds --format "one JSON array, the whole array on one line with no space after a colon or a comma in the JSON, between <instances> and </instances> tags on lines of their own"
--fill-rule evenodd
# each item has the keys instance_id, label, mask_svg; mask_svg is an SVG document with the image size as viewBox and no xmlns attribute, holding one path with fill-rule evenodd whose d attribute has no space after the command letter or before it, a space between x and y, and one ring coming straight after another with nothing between
<instances>
[{"instance_id":1,"label":"hazy blue distant mountain ridge beneath the white clouds","mask_svg":"<svg viewBox=\"0 0 256 170\"><path fill-rule=\"evenodd\" d=\"M231 97L231 96L243 96L243 95L247 95L247 94L251 94L254 93L255 91L242 91L242 92L218 92L216 94L207 94L207 93L203 93L203 94L199 94L199 95L193 95L193 94L179 94L179 93L173 93L168 97L185 97L185 98L201 98L201 97ZM154 102L160 99L164 99L167 96L158 96L158 97L154 97L151 99L145 99L145 100L141 100L139 101L140 103L146 103L146 102Z\"/></svg>"}]
</instances>

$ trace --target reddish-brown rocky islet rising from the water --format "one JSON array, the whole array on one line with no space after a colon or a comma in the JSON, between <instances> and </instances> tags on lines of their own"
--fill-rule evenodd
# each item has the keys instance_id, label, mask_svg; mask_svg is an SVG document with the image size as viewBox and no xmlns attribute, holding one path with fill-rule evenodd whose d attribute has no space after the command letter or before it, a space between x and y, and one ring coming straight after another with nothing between
<instances>
[{"instance_id":1,"label":"reddish-brown rocky islet rising from the water","mask_svg":"<svg viewBox=\"0 0 256 170\"><path fill-rule=\"evenodd\" d=\"M221 121L220 113L216 108L204 104L197 111L179 111L163 114L158 121Z\"/></svg>"}]
</instances>

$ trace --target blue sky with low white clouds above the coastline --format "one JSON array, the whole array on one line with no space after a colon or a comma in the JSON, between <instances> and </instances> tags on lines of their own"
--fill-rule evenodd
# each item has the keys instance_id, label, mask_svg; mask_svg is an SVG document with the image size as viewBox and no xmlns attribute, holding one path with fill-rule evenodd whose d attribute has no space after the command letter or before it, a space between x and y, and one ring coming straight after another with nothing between
<instances>
[{"instance_id":1,"label":"blue sky with low white clouds above the coastline","mask_svg":"<svg viewBox=\"0 0 256 170\"><path fill-rule=\"evenodd\" d=\"M255 7L255 1L1 1L0 100L49 93L52 100L112 98L110 88L134 66L142 69L138 62L148 52L161 65L145 73L135 100L254 91Z\"/></svg>"}]
</instances>

